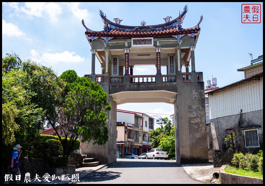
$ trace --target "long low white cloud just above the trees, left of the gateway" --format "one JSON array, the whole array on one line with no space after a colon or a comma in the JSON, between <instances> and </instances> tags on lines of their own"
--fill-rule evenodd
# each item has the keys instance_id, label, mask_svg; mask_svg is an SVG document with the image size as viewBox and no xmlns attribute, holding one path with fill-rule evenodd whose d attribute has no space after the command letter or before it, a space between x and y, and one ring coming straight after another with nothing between
<instances>
[{"instance_id":1,"label":"long low white cloud just above the trees, left of the gateway","mask_svg":"<svg viewBox=\"0 0 265 186\"><path fill-rule=\"evenodd\" d=\"M63 53L48 53L43 52L39 54L36 50L31 50L31 59L36 61L37 63L41 63L43 65L58 65L60 64L74 64L84 62L84 57L80 57L76 55L75 52L64 51Z\"/></svg>"}]
</instances>

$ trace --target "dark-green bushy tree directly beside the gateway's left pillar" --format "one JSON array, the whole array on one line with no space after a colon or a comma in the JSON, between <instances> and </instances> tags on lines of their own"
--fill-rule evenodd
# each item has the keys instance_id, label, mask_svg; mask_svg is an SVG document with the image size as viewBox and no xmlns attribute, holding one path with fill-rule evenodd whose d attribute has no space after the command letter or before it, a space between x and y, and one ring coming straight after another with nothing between
<instances>
[{"instance_id":1,"label":"dark-green bushy tree directly beside the gateway's left pillar","mask_svg":"<svg viewBox=\"0 0 265 186\"><path fill-rule=\"evenodd\" d=\"M73 77L74 71L64 72L60 78L69 83L69 77ZM75 78L75 76L74 76ZM69 90L69 89L70 90ZM111 110L107 102L107 93L91 79L77 77L64 97L64 102L56 109L56 122L49 121L54 128L63 146L63 155L68 157L78 136L82 142L104 145L108 141L108 117L106 111ZM62 140L61 136L70 140Z\"/></svg>"}]
</instances>

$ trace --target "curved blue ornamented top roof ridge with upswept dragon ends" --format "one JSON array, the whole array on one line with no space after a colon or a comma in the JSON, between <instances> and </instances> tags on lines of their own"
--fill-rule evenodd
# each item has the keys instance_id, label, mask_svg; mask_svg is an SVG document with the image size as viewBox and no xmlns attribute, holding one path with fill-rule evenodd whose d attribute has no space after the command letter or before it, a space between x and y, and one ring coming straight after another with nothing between
<instances>
[{"instance_id":1,"label":"curved blue ornamented top roof ridge with upswept dragon ends","mask_svg":"<svg viewBox=\"0 0 265 186\"><path fill-rule=\"evenodd\" d=\"M166 30L171 28L176 28L177 26L180 26L183 23L183 20L185 18L185 15L188 11L188 6L186 5L183 8L183 12L179 16L170 21L171 16L167 16L166 18L163 18L166 23L159 24L159 25L151 25L151 26L145 26L145 21L141 22L142 26L126 26L126 25L120 25L120 22L122 20L118 18L114 18L113 20L116 21L116 23L108 20L106 17L106 14L99 10L99 14L101 16L102 21L104 22L104 32L109 32L110 30L119 30L119 31L129 31L129 32L142 32L142 31L160 31L160 30ZM181 26L180 26L181 28Z\"/></svg>"}]
</instances>

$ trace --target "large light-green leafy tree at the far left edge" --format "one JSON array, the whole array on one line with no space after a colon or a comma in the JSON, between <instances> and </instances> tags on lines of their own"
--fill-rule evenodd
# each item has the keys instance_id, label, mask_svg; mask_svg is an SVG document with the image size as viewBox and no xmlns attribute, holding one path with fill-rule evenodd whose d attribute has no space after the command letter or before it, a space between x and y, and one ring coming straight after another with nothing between
<instances>
[{"instance_id":1,"label":"large light-green leafy tree at the far left edge","mask_svg":"<svg viewBox=\"0 0 265 186\"><path fill-rule=\"evenodd\" d=\"M43 71L39 81L25 70L32 66L38 67L33 70L34 74ZM48 90L46 84L40 84L43 79L50 78L47 76L47 71L42 66L30 60L21 62L16 54L7 54L2 58L3 152L6 152L6 148L9 152L10 147L15 144L21 144L27 149L27 144L39 137L38 131L45 122L45 109L39 105L42 94L38 94L37 90L45 88ZM2 154L2 157L4 156Z\"/></svg>"}]
</instances>

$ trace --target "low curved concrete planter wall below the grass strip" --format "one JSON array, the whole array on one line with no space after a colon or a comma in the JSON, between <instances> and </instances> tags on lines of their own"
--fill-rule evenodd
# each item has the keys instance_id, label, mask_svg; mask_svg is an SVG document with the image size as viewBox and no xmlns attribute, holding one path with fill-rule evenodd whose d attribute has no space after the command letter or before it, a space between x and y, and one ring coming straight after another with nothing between
<instances>
[{"instance_id":1,"label":"low curved concrete planter wall below the grass strip","mask_svg":"<svg viewBox=\"0 0 265 186\"><path fill-rule=\"evenodd\" d=\"M224 168L226 168L225 165L220 168L220 184L263 184L262 178L254 178L250 176L241 176L238 174L226 173L224 171Z\"/></svg>"}]
</instances>

